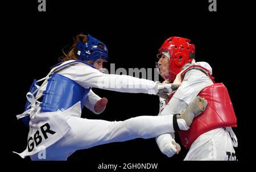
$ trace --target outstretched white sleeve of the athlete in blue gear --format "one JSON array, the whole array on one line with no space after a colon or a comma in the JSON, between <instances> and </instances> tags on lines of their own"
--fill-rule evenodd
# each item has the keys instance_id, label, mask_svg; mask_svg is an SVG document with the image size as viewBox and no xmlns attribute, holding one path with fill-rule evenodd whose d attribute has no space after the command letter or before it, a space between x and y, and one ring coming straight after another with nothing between
<instances>
[{"instance_id":1,"label":"outstretched white sleeve of the athlete in blue gear","mask_svg":"<svg viewBox=\"0 0 256 172\"><path fill-rule=\"evenodd\" d=\"M74 64L58 72L82 87L118 91L123 93L155 93L155 82L129 75L104 74L85 64Z\"/></svg>"}]
</instances>

